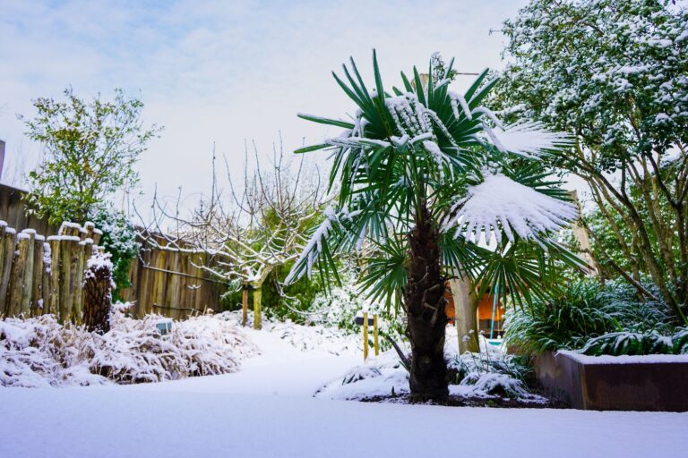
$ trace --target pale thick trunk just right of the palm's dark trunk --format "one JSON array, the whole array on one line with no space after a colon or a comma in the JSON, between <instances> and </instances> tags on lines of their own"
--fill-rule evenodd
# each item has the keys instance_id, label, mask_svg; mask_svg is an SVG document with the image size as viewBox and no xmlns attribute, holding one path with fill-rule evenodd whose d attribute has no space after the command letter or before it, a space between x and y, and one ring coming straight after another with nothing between
<instances>
[{"instance_id":1,"label":"pale thick trunk just right of the palm's dark trunk","mask_svg":"<svg viewBox=\"0 0 688 458\"><path fill-rule=\"evenodd\" d=\"M478 352L476 289L466 276L450 280L449 284L454 298L454 321L459 338L459 353ZM464 336L468 336L468 339Z\"/></svg>"}]
</instances>

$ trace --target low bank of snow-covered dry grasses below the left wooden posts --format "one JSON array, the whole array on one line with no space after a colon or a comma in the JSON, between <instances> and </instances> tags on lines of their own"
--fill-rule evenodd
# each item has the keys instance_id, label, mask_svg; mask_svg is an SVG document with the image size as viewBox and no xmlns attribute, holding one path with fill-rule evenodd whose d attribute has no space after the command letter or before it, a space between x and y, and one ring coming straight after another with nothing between
<instances>
[{"instance_id":1,"label":"low bank of snow-covered dry grasses below the left wooden posts","mask_svg":"<svg viewBox=\"0 0 688 458\"><path fill-rule=\"evenodd\" d=\"M52 315L0 321L0 385L72 386L156 382L224 374L257 352L227 319L203 315L175 322L168 335L161 317L126 318L122 307L100 335L63 326Z\"/></svg>"}]
</instances>

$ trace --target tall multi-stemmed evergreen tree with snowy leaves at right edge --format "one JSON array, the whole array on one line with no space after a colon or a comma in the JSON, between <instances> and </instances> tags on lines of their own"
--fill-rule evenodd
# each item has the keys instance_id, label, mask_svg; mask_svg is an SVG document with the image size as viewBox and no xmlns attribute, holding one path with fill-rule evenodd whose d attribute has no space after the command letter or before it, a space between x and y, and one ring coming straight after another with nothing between
<instances>
[{"instance_id":1,"label":"tall multi-stemmed evergreen tree with snowy leaves at right edge","mask_svg":"<svg viewBox=\"0 0 688 458\"><path fill-rule=\"evenodd\" d=\"M688 12L666 0L534 0L503 33L511 64L495 106L576 135L549 163L589 184L630 261L593 227L598 264L654 301L649 274L688 322Z\"/></svg>"}]
</instances>

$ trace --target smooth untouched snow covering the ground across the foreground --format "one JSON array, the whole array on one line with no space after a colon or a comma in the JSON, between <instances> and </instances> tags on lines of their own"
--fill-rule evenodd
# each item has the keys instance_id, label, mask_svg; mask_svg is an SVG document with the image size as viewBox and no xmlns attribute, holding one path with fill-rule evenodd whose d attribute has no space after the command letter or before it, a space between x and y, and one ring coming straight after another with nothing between
<instances>
[{"instance_id":1,"label":"smooth untouched snow covering the ground across the foreground","mask_svg":"<svg viewBox=\"0 0 688 458\"><path fill-rule=\"evenodd\" d=\"M131 386L0 389L0 457L683 456L688 414L313 398L360 363L247 331L239 372Z\"/></svg>"}]
</instances>

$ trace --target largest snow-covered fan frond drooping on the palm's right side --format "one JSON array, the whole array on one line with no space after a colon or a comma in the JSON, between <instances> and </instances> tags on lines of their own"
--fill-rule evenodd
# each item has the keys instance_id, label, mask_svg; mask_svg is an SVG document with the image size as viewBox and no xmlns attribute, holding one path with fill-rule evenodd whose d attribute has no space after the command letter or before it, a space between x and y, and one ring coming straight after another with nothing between
<instances>
[{"instance_id":1,"label":"largest snow-covered fan frond drooping on the palm's right side","mask_svg":"<svg viewBox=\"0 0 688 458\"><path fill-rule=\"evenodd\" d=\"M484 233L486 241L494 234L501 243L502 230L510 242L514 233L534 239L540 233L561 229L578 216L571 203L546 196L503 174L486 176L484 182L469 187L468 197L454 209L458 209L456 215L444 228L465 225L463 233L476 242Z\"/></svg>"}]
</instances>

